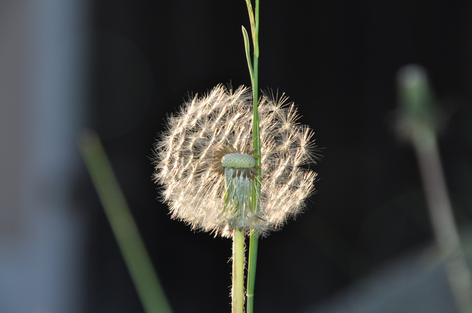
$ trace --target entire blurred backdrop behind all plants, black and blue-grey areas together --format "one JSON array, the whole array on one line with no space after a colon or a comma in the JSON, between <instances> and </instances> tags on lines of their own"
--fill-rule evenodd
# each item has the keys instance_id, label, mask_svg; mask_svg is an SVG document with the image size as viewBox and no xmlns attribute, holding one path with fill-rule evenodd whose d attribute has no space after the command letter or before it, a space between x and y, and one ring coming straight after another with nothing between
<instances>
[{"instance_id":1,"label":"entire blurred backdrop behind all plants, black and blue-grey areas together","mask_svg":"<svg viewBox=\"0 0 472 313\"><path fill-rule=\"evenodd\" d=\"M295 102L323 157L306 212L259 242L255 312L457 312L392 125L396 72L421 64L467 255L471 16L469 1L261 1L259 84ZM170 219L152 146L189 95L250 85L241 25L243 0L1 1L0 312L143 312L76 146L84 127L174 312L230 312L231 241Z\"/></svg>"}]
</instances>

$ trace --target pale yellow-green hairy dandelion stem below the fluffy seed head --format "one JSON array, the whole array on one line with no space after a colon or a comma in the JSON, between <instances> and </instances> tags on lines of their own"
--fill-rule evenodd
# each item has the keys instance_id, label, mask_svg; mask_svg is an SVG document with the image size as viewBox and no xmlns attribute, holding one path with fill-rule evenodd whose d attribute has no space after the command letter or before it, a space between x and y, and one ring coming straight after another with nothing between
<instances>
[{"instance_id":1,"label":"pale yellow-green hairy dandelion stem below the fluffy seed head","mask_svg":"<svg viewBox=\"0 0 472 313\"><path fill-rule=\"evenodd\" d=\"M233 230L233 287L232 313L244 312L244 230Z\"/></svg>"}]
</instances>

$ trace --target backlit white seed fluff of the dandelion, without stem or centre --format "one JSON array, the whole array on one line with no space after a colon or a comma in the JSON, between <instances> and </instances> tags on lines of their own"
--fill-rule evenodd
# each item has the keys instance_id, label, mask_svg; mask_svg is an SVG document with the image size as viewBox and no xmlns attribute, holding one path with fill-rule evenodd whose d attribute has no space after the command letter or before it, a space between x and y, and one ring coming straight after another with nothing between
<instances>
[{"instance_id":1,"label":"backlit white seed fluff of the dandelion, without stem or centre","mask_svg":"<svg viewBox=\"0 0 472 313\"><path fill-rule=\"evenodd\" d=\"M261 177L255 174L258 166L252 167L249 157L253 154L250 89L239 87L232 92L218 85L169 116L167 129L155 145L155 181L163 185L162 198L169 204L172 218L193 229L230 237L236 227L266 235L302 211L317 175L302 165L314 163L316 155L312 130L296 122L296 108L286 100L283 95L277 99L265 94L259 103ZM243 168L223 166L223 156L230 153L247 155L234 161ZM229 180L261 181L258 212L242 205L244 213L240 211L236 218L234 210L224 209L225 169L233 171L228 172Z\"/></svg>"}]
</instances>

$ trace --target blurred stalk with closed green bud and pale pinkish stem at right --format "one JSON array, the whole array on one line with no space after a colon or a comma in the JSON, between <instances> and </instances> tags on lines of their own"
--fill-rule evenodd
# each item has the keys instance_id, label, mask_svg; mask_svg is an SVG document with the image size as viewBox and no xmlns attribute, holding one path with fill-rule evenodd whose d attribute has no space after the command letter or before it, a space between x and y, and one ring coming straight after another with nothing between
<instances>
[{"instance_id":1,"label":"blurred stalk with closed green bud and pale pinkish stem at right","mask_svg":"<svg viewBox=\"0 0 472 313\"><path fill-rule=\"evenodd\" d=\"M447 192L436 130L438 108L421 66L402 67L397 76L399 134L413 145L420 168L426 203L436 243L445 262L447 278L461 313L472 312L472 277L466 264Z\"/></svg>"}]
</instances>

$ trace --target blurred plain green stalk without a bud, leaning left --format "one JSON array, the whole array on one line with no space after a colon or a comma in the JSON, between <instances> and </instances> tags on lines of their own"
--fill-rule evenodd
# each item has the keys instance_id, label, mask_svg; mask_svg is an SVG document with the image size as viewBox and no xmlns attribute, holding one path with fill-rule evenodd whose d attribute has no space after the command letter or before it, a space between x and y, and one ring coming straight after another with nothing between
<instances>
[{"instance_id":1,"label":"blurred plain green stalk without a bud, leaning left","mask_svg":"<svg viewBox=\"0 0 472 313\"><path fill-rule=\"evenodd\" d=\"M98 135L85 130L78 139L80 153L146 313L171 313L151 259Z\"/></svg>"}]
</instances>

